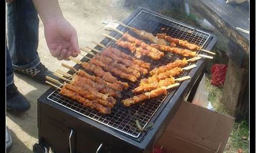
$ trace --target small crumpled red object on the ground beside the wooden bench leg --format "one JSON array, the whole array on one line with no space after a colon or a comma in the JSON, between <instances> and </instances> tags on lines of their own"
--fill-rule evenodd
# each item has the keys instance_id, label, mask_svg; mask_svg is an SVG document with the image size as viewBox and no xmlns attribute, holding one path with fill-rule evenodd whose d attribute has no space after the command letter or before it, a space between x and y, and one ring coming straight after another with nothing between
<instances>
[{"instance_id":1,"label":"small crumpled red object on the ground beside the wooden bench leg","mask_svg":"<svg viewBox=\"0 0 256 153\"><path fill-rule=\"evenodd\" d=\"M227 72L227 64L214 64L210 71L212 73L210 83L214 86L223 86Z\"/></svg>"}]
</instances>

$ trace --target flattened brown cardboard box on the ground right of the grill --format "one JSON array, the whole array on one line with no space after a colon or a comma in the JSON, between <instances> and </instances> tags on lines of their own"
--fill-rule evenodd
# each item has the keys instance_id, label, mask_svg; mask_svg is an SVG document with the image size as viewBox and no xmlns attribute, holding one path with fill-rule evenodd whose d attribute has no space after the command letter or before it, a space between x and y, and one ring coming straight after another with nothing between
<instances>
[{"instance_id":1,"label":"flattened brown cardboard box on the ground right of the grill","mask_svg":"<svg viewBox=\"0 0 256 153\"><path fill-rule=\"evenodd\" d=\"M182 101L158 146L166 152L223 152L234 118Z\"/></svg>"}]
</instances>

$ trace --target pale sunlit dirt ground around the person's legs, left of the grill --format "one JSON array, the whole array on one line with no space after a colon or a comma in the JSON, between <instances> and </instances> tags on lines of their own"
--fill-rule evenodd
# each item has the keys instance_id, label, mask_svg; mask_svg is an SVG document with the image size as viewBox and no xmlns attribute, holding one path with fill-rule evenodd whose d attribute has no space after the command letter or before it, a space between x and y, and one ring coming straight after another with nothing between
<instances>
[{"instance_id":1,"label":"pale sunlit dirt ground around the person's legs, left of the grill","mask_svg":"<svg viewBox=\"0 0 256 153\"><path fill-rule=\"evenodd\" d=\"M103 39L102 33L108 34L103 29L95 31L102 27L101 21L117 19L122 21L131 11L123 8L123 1L118 1L117 5L113 1L88 1L88 0L61 0L59 1L63 15L75 27L79 37L79 45L91 46L94 44L88 41L100 41ZM112 4L112 6L111 6ZM63 61L58 61L50 55L42 22L39 23L39 45L38 54L41 62L51 71L57 69L66 70L61 67ZM81 58L81 57L79 57ZM69 65L74 65L72 61L64 61ZM22 75L15 74L15 85L18 90L25 95L31 103L31 109L23 114L6 115L6 124L10 129L13 139L13 146L9 152L29 153L32 152L32 146L37 142L37 98L41 96L48 88L47 85L41 85Z\"/></svg>"}]
</instances>

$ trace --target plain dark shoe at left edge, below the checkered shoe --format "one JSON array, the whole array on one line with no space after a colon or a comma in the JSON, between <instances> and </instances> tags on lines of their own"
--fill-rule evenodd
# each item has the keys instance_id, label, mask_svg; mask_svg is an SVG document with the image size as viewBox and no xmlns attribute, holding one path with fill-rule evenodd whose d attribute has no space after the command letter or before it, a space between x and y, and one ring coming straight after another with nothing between
<instances>
[{"instance_id":1,"label":"plain dark shoe at left edge, below the checkered shoe","mask_svg":"<svg viewBox=\"0 0 256 153\"><path fill-rule=\"evenodd\" d=\"M17 90L14 84L6 87L6 109L20 113L30 109L29 101Z\"/></svg>"}]
</instances>

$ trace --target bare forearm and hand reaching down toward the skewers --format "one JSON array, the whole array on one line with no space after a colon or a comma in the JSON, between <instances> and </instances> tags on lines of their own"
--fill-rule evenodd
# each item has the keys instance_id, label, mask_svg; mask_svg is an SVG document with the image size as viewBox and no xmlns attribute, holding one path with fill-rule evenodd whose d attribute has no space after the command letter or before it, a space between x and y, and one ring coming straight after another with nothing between
<instances>
[{"instance_id":1,"label":"bare forearm and hand reaching down toward the skewers","mask_svg":"<svg viewBox=\"0 0 256 153\"><path fill-rule=\"evenodd\" d=\"M44 23L45 38L50 53L58 60L68 60L80 53L77 33L63 17L57 0L32 0Z\"/></svg>"}]
</instances>

